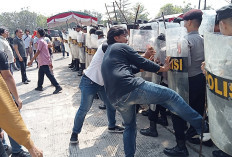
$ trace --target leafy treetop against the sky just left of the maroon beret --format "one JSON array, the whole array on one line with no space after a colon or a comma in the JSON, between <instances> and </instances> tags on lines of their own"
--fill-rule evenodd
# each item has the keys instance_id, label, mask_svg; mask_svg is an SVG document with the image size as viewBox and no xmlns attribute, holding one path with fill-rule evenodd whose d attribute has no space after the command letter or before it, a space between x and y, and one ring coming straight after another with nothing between
<instances>
[{"instance_id":1,"label":"leafy treetop against the sky just left of the maroon beret","mask_svg":"<svg viewBox=\"0 0 232 157\"><path fill-rule=\"evenodd\" d=\"M174 6L171 3L168 3L160 8L157 17L160 17L162 15L162 12L164 13L164 15L178 14L182 13L182 8L180 6Z\"/></svg>"}]
</instances>

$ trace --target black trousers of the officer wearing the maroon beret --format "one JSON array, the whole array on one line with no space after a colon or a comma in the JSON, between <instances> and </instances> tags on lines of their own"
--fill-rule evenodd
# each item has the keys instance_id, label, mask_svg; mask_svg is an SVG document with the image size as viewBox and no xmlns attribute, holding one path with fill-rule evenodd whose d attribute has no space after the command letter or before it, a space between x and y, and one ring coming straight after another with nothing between
<instances>
[{"instance_id":1,"label":"black trousers of the officer wearing the maroon beret","mask_svg":"<svg viewBox=\"0 0 232 157\"><path fill-rule=\"evenodd\" d=\"M204 74L189 77L189 105L200 115L204 113L206 81ZM186 121L172 114L176 140L185 140Z\"/></svg>"}]
</instances>

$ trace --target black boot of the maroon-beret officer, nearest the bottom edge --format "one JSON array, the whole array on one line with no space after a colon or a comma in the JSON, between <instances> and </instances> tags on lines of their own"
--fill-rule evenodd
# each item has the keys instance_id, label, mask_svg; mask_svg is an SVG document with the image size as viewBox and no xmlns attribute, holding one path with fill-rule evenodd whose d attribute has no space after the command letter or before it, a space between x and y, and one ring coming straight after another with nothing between
<instances>
[{"instance_id":1,"label":"black boot of the maroon-beret officer, nearest the bottom edge","mask_svg":"<svg viewBox=\"0 0 232 157\"><path fill-rule=\"evenodd\" d=\"M167 156L187 157L189 156L188 149L185 145L185 140L177 140L177 145L173 148L165 148L164 154Z\"/></svg>"}]
</instances>

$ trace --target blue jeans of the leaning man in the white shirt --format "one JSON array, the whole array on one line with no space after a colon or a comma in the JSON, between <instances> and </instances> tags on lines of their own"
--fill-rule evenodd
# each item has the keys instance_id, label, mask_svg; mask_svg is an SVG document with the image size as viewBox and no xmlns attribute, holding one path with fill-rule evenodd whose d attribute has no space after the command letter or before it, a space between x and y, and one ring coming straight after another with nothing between
<instances>
[{"instance_id":1,"label":"blue jeans of the leaning man in the white shirt","mask_svg":"<svg viewBox=\"0 0 232 157\"><path fill-rule=\"evenodd\" d=\"M115 127L115 114L116 109L110 104L108 98L106 97L104 86L100 86L97 83L93 82L87 76L83 75L81 78L81 82L79 85L81 89L81 104L76 113L74 119L73 133L79 134L81 132L81 128L83 126L83 122L85 120L85 116L89 109L91 108L94 100L94 96L98 93L101 100L106 105L107 109L107 118L109 128Z\"/></svg>"}]
</instances>

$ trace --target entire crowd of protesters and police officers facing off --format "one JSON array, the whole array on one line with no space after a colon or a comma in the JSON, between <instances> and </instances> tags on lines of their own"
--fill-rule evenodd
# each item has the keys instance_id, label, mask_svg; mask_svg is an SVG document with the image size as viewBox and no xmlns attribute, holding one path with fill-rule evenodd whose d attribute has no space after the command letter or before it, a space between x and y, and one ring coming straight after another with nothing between
<instances>
[{"instance_id":1,"label":"entire crowd of protesters and police officers facing off","mask_svg":"<svg viewBox=\"0 0 232 157\"><path fill-rule=\"evenodd\" d=\"M52 72L52 47L55 48L55 51L62 51L63 56L65 53L67 56L71 54L72 62L69 68L81 77L79 84L81 101L70 135L71 144L80 142L78 135L81 132L85 116L90 110L94 98L99 97L104 103L100 108L107 111L108 131L123 132L126 157L134 157L136 153L136 114L138 106L142 104L149 105L149 109L145 113L150 121L149 128L140 130L142 135L158 137L156 125L167 126L167 113L171 115L176 146L165 148L163 150L165 155L189 156L186 140L194 144L200 144L202 140L204 145L212 146L213 142L209 137L209 124L203 119L207 82L205 79L204 37L199 34L202 16L201 10L193 9L185 13L182 18L173 21L178 24L183 21L183 27L187 30L187 35L184 37L188 45L188 64L184 67L188 69L188 78L186 79L189 96L187 102L179 91L168 88L170 85L167 81L167 72L170 71L174 60L170 56L166 56L166 49L158 48L163 56L155 58L157 57L157 51L155 51L157 48L147 47L142 54L139 54L138 50L132 48L131 43L128 45L131 29L139 29L138 24L127 25L127 28L119 25L111 26L107 31L107 37L101 26L77 25L68 31L63 30L62 41L55 38L53 44L49 38L45 37L46 32L43 29L39 28L35 32L36 36L33 35L34 37L29 35L30 31L27 29L24 35L21 29L17 29L13 46L7 41L7 30L0 28L0 101L1 108L4 109L0 111L0 116L3 117L0 119L0 127L10 135L12 156L26 157L30 154L33 157L42 156L42 152L31 141L30 133L25 129L25 124L18 112L22 108L22 101L12 76L14 58L20 65L24 84L30 82L26 75L27 65L31 66L36 60L39 67L39 78L35 90L43 90L44 74L46 74L56 88L53 94L57 94L62 87ZM140 29L151 30L152 28L148 24ZM232 5L217 10L214 32L232 36ZM167 37L160 33L156 40L159 43L165 43ZM146 45L142 46L146 47ZM181 53L180 49L178 47L176 51ZM28 62L29 56L30 61ZM160 75L161 80L157 84L152 80L135 77L135 74L144 71ZM116 125L116 110L122 116L123 126ZM6 118L9 119L7 122ZM16 123L17 119L20 119L20 122ZM18 136L19 134L22 136ZM0 135L2 137L2 134ZM200 138L200 135L203 138ZM2 139L0 155L5 157L7 155L4 156L4 153L9 152L10 147L5 144L3 137ZM30 154L22 150L21 145L17 142L24 145ZM227 154L229 152L224 151L215 150L212 154L214 157L231 157Z\"/></svg>"}]
</instances>

